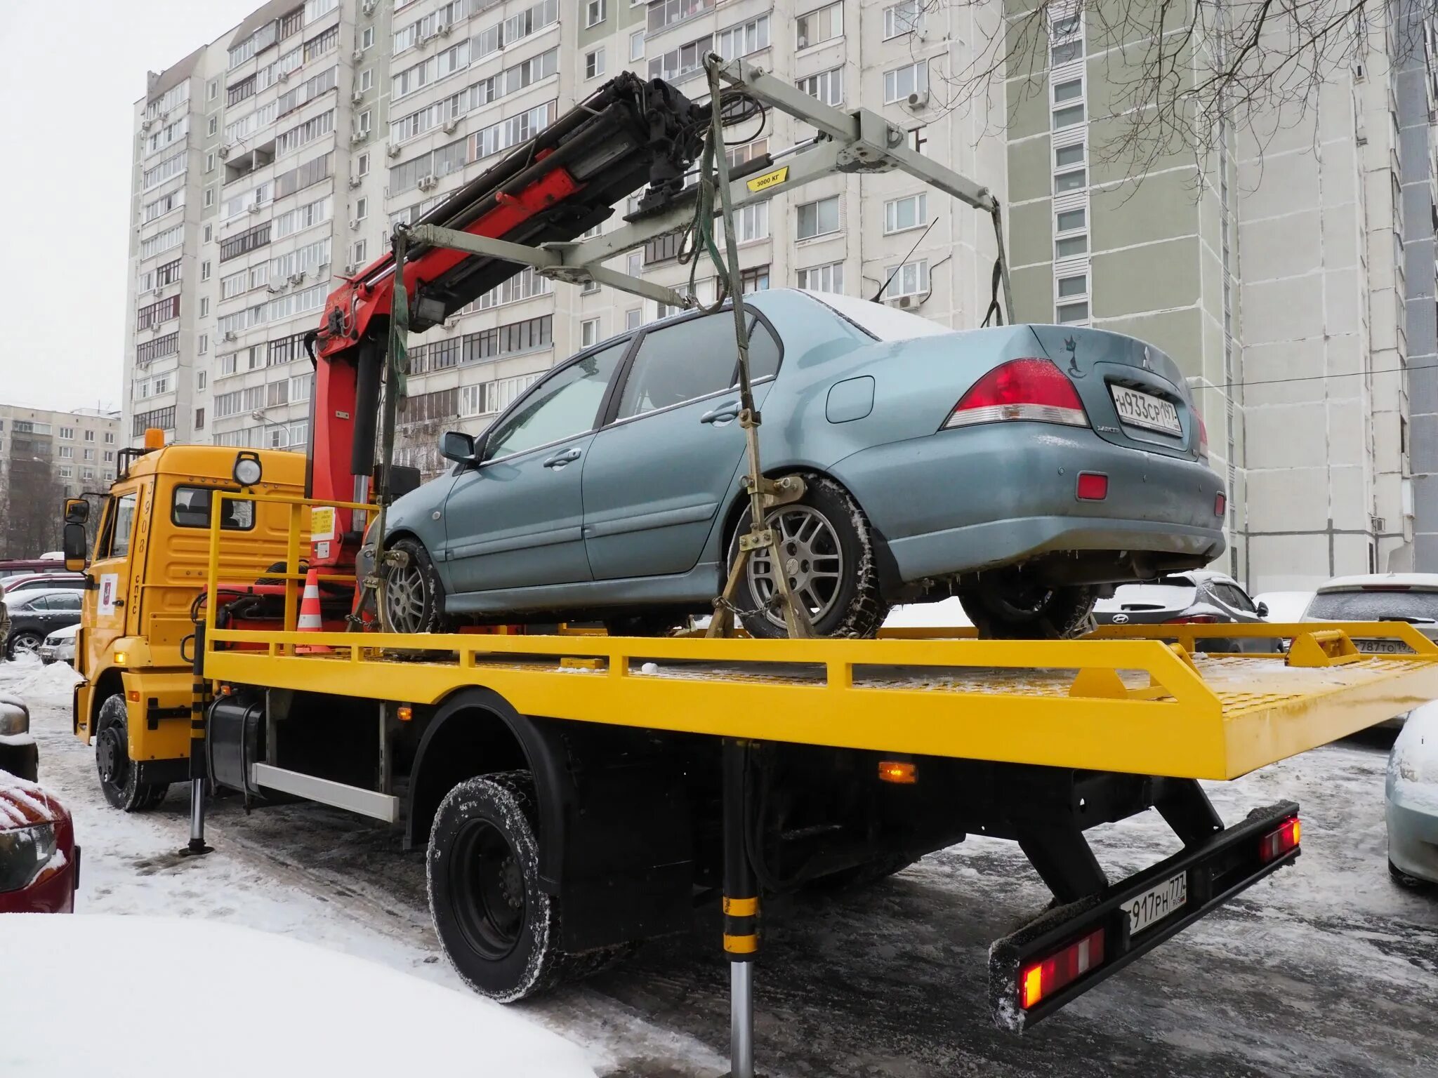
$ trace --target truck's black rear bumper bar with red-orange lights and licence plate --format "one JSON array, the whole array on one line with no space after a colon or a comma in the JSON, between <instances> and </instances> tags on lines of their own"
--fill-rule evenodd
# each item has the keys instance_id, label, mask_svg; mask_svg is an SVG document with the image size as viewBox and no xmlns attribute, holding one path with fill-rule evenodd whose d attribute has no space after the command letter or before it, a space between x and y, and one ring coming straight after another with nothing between
<instances>
[{"instance_id":1,"label":"truck's black rear bumper bar with red-orange lights and licence plate","mask_svg":"<svg viewBox=\"0 0 1438 1078\"><path fill-rule=\"evenodd\" d=\"M1299 857L1299 806L1254 809L1173 857L1047 910L989 947L994 1022L1020 1033Z\"/></svg>"}]
</instances>

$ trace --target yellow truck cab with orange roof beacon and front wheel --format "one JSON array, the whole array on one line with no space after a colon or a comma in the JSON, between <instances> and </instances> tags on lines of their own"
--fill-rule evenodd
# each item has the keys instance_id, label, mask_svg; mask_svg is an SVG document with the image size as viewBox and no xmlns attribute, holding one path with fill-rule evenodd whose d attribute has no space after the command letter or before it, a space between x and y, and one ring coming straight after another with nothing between
<instances>
[{"instance_id":1,"label":"yellow truck cab with orange roof beacon and front wheel","mask_svg":"<svg viewBox=\"0 0 1438 1078\"><path fill-rule=\"evenodd\" d=\"M150 438L147 436L147 444ZM73 729L95 742L106 799L137 809L188 778L193 697L193 612L204 595L211 490L301 496L305 457L223 446L122 450L86 562L89 506L66 503L66 568L89 578L75 668ZM253 461L240 467L240 461ZM242 486L259 464L257 483ZM289 515L282 505L227 502L226 548L256 563L285 559ZM221 565L223 572L223 565Z\"/></svg>"}]
</instances>

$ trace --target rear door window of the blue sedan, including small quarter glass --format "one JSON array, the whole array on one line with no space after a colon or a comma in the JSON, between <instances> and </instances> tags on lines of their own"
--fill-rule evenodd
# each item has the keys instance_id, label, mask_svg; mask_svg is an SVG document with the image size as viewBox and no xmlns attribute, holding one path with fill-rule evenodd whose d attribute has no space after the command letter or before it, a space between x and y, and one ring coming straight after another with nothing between
<instances>
[{"instance_id":1,"label":"rear door window of the blue sedan, including small quarter glass","mask_svg":"<svg viewBox=\"0 0 1438 1078\"><path fill-rule=\"evenodd\" d=\"M751 318L749 326L751 377L772 375L779 365L778 342L758 318ZM733 312L720 310L651 329L634 354L615 418L627 420L707 397L735 385L736 378Z\"/></svg>"}]
</instances>

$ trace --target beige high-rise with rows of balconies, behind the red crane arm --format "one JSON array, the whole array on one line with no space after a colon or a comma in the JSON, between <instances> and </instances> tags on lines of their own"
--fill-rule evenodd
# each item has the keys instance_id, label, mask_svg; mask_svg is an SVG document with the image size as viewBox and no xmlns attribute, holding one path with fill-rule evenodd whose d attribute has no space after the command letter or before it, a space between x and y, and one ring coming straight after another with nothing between
<instances>
[{"instance_id":1,"label":"beige high-rise with rows of balconies, behind the red crane arm","mask_svg":"<svg viewBox=\"0 0 1438 1078\"><path fill-rule=\"evenodd\" d=\"M912 144L1002 194L1004 141L982 108L935 92L982 11L919 0L308 0L270 3L150 78L135 105L125 437L305 448L309 365L332 277L623 69L707 96L709 49L831 105L863 102ZM932 75L930 75L932 72ZM787 116L735 162L812 135ZM605 227L615 227L627 207ZM896 175L834 175L741 214L748 287L873 296L955 326L988 305L989 221ZM686 286L677 244L614 266ZM700 298L715 295L705 269ZM403 460L477 433L557 359L663 312L531 272L411 342Z\"/></svg>"}]
</instances>

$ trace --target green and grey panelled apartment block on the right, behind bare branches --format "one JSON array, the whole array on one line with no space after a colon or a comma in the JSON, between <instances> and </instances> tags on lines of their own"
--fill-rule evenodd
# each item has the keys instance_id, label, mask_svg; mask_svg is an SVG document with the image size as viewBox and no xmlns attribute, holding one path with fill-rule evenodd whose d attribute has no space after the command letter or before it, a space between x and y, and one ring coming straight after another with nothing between
<instances>
[{"instance_id":1,"label":"green and grey panelled apartment block on the right, behind bare branches","mask_svg":"<svg viewBox=\"0 0 1438 1078\"><path fill-rule=\"evenodd\" d=\"M1415 568L1405 369L1434 351L1431 32L1416 50L1396 24L1372 34L1301 108L1136 175L1104 149L1140 50L1097 26L1051 6L1047 40L1008 72L1018 318L1132 333L1179 362L1229 482L1222 568L1251 588Z\"/></svg>"}]
</instances>

